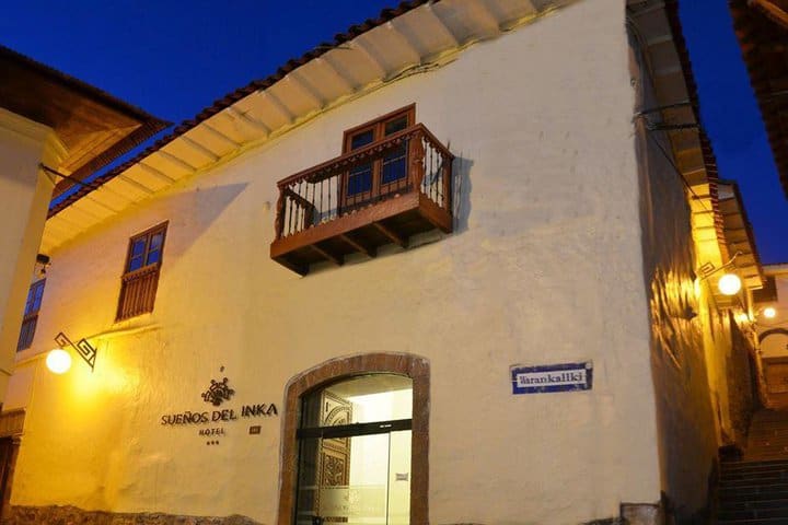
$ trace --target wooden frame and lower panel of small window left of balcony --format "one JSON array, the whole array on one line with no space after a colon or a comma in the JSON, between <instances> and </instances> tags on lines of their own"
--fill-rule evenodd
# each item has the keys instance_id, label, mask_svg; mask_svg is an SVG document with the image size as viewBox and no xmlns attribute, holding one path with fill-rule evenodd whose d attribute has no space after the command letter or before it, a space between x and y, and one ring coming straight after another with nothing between
<instances>
[{"instance_id":1,"label":"wooden frame and lower panel of small window left of balcony","mask_svg":"<svg viewBox=\"0 0 788 525\"><path fill-rule=\"evenodd\" d=\"M164 260L164 245L166 244L166 231L170 221L164 221L155 226L140 232L129 237L128 248L126 249L126 258L124 261L124 271L120 276L120 294L118 296L117 313L115 320L126 320L138 315L153 312L155 304L157 290L159 288L159 275L161 272L162 261ZM150 265L144 262L150 255L150 242L158 233L162 233L162 242L159 247L159 260ZM129 270L131 262L131 253L135 243L146 238L146 245L142 250L142 266L135 270Z\"/></svg>"}]
</instances>

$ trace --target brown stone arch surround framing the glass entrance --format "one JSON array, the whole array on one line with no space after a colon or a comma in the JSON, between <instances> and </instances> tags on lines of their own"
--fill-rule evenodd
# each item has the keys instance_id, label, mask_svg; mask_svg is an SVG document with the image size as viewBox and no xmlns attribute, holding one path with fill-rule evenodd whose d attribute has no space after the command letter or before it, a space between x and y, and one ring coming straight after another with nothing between
<instances>
[{"instance_id":1,"label":"brown stone arch surround framing the glass entrance","mask_svg":"<svg viewBox=\"0 0 788 525\"><path fill-rule=\"evenodd\" d=\"M413 380L410 441L410 524L429 523L429 361L409 353L366 353L338 358L299 374L286 389L281 443L279 512L277 525L292 525L298 487L298 440L301 398L337 381L373 373L398 374Z\"/></svg>"}]
</instances>

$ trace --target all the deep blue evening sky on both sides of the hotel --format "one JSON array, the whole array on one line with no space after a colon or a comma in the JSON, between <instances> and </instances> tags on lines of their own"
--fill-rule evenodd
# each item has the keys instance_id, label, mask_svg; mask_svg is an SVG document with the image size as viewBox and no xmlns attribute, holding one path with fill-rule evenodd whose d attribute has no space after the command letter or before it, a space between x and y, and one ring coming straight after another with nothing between
<instances>
[{"instance_id":1,"label":"all the deep blue evening sky on both sides of the hotel","mask_svg":"<svg viewBox=\"0 0 788 525\"><path fill-rule=\"evenodd\" d=\"M397 1L8 2L0 44L177 124ZM727 1L684 0L681 15L720 176L740 183L762 260L788 261L788 202Z\"/></svg>"}]
</instances>

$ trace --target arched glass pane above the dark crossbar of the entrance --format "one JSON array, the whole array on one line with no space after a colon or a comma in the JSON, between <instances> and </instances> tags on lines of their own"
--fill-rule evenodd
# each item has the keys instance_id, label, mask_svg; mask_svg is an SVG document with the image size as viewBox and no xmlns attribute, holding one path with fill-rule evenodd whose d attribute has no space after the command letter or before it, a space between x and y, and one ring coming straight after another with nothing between
<instances>
[{"instance_id":1,"label":"arched glass pane above the dark crossbar of the entrance","mask_svg":"<svg viewBox=\"0 0 788 525\"><path fill-rule=\"evenodd\" d=\"M360 375L306 395L301 428L410 419L412 413L410 377Z\"/></svg>"}]
</instances>

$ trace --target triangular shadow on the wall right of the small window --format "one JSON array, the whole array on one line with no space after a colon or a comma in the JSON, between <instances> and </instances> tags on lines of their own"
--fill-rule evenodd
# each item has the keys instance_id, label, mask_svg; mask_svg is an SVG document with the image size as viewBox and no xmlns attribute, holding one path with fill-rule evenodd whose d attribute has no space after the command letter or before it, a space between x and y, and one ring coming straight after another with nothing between
<instances>
[{"instance_id":1,"label":"triangular shadow on the wall right of the small window","mask_svg":"<svg viewBox=\"0 0 788 525\"><path fill-rule=\"evenodd\" d=\"M174 195L167 199L170 229L177 229L177 236L167 241L169 257L179 257L187 252L195 241L201 237L206 231L219 219L224 210L246 189L248 183L228 184L208 188L195 188L192 191ZM259 210L264 210L260 202ZM257 215L255 215L257 217ZM258 221L260 235L266 223ZM254 234L250 232L250 234Z\"/></svg>"}]
</instances>

